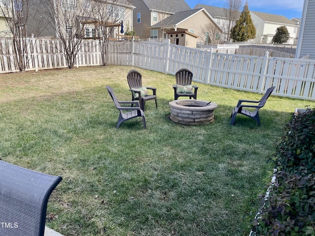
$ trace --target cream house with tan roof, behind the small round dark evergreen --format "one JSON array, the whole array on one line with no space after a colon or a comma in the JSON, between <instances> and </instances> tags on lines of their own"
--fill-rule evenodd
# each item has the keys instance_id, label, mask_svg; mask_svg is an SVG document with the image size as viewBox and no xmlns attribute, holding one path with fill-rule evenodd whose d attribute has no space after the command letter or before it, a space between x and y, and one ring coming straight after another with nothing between
<instances>
[{"instance_id":1,"label":"cream house with tan roof, behind the small round dark evergreen","mask_svg":"<svg viewBox=\"0 0 315 236\"><path fill-rule=\"evenodd\" d=\"M256 38L253 39L253 42L271 44L277 28L280 26L285 26L290 34L287 44L296 43L299 26L295 25L293 21L281 15L256 11L250 11L250 13L256 28Z\"/></svg>"}]
</instances>

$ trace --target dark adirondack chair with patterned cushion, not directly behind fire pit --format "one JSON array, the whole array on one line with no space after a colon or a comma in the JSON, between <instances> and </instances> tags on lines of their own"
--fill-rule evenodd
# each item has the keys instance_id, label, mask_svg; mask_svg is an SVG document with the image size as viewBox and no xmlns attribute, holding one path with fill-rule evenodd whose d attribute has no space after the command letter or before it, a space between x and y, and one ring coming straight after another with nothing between
<instances>
[{"instance_id":1,"label":"dark adirondack chair with patterned cushion, not directly behind fire pit","mask_svg":"<svg viewBox=\"0 0 315 236\"><path fill-rule=\"evenodd\" d=\"M146 104L146 101L148 100L155 100L156 101L156 107L158 109L158 103L157 103L157 88L153 87L145 87L146 89L152 90L153 94L146 94L141 95L141 90L144 88L142 86L142 75L137 70L130 70L127 74L127 81L129 85L129 90L131 91L132 101L139 100L140 102L140 108L144 111L144 106Z\"/></svg>"}]
</instances>

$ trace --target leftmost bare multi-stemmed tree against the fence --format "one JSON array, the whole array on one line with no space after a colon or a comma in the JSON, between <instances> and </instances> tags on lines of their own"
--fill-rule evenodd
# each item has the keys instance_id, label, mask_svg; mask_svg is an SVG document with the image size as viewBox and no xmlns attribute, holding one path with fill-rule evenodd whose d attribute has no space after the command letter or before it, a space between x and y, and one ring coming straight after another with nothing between
<instances>
[{"instance_id":1,"label":"leftmost bare multi-stemmed tree against the fence","mask_svg":"<svg viewBox=\"0 0 315 236\"><path fill-rule=\"evenodd\" d=\"M27 38L27 20L30 9L29 0L0 0L0 11L5 19L6 27L9 29L4 36L11 37L14 63L20 72L25 71L30 60L30 49L32 40ZM8 47L2 50L10 50ZM8 52L5 52L8 54Z\"/></svg>"}]
</instances>

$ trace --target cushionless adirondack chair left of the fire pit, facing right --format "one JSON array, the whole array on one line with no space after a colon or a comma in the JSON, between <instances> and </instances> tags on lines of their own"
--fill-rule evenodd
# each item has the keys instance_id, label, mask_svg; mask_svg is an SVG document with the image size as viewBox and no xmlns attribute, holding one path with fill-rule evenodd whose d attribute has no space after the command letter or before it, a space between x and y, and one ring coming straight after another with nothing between
<instances>
[{"instance_id":1,"label":"cushionless adirondack chair left of the fire pit, facing right","mask_svg":"<svg viewBox=\"0 0 315 236\"><path fill-rule=\"evenodd\" d=\"M112 97L114 104L116 108L119 110L119 118L117 122L116 129L119 128L120 124L128 119L136 118L136 117L141 117L143 121L143 126L146 129L147 128L147 123L146 123L146 118L144 116L144 111L141 110L139 102L138 101L119 101L113 91L113 89L110 86L106 86L110 96ZM122 107L121 104L134 104L135 107ZM123 111L130 111L127 113L124 113Z\"/></svg>"}]
</instances>

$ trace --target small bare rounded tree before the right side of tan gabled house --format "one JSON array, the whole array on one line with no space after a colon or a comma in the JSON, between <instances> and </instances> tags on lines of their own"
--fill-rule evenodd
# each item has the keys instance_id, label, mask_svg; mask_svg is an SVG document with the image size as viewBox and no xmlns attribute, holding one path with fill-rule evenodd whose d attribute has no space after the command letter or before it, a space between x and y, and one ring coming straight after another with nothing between
<instances>
[{"instance_id":1,"label":"small bare rounded tree before the right side of tan gabled house","mask_svg":"<svg viewBox=\"0 0 315 236\"><path fill-rule=\"evenodd\" d=\"M219 44L223 41L221 29L211 22L201 27L198 36L204 38L206 43Z\"/></svg>"}]
</instances>

